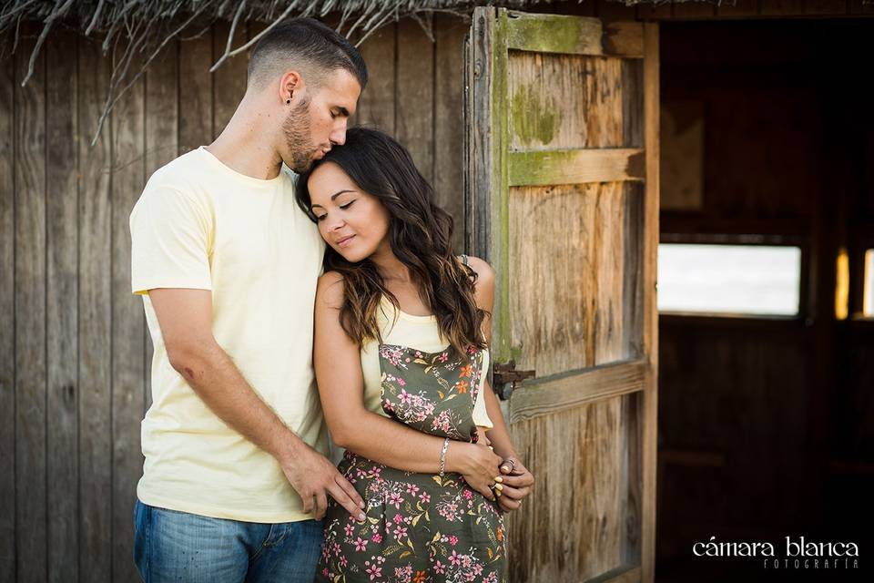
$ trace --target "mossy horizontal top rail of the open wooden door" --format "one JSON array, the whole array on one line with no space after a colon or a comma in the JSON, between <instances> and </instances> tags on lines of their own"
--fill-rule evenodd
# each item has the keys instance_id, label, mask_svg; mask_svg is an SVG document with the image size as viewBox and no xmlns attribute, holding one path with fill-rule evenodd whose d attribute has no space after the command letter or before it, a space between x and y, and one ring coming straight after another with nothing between
<instances>
[{"instance_id":1,"label":"mossy horizontal top rail of the open wooden door","mask_svg":"<svg viewBox=\"0 0 874 583\"><path fill-rule=\"evenodd\" d=\"M598 18L507 12L507 48L563 55L644 56L643 25Z\"/></svg>"}]
</instances>

